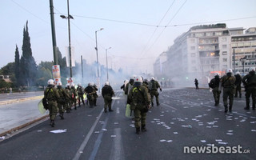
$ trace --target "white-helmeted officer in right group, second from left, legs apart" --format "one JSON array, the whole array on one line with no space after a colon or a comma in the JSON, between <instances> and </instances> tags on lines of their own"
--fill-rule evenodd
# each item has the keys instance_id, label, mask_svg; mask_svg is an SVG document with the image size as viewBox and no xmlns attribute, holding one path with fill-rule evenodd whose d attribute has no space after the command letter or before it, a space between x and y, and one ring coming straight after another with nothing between
<instances>
[{"instance_id":1,"label":"white-helmeted officer in right group, second from left, legs apart","mask_svg":"<svg viewBox=\"0 0 256 160\"><path fill-rule=\"evenodd\" d=\"M235 82L235 77L232 76L232 69L226 70L226 75L224 75L221 78L221 83L223 87L223 103L224 103L224 108L225 108L225 113L229 110L232 112L232 106L233 106L233 101L234 101L234 82ZM230 99L229 102L229 108L227 98Z\"/></svg>"}]
</instances>

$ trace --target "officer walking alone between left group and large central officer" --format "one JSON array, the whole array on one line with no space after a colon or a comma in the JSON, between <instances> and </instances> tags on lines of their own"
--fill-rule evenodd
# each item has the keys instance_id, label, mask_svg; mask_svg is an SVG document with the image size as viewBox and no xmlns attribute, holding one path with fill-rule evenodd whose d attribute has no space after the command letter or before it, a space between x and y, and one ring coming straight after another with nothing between
<instances>
[{"instance_id":1,"label":"officer walking alone between left group and large central officer","mask_svg":"<svg viewBox=\"0 0 256 160\"><path fill-rule=\"evenodd\" d=\"M104 98L104 112L106 113L106 108L109 108L109 111L112 112L111 103L112 97L114 96L114 90L110 86L110 82L105 82L105 86L102 87L102 97Z\"/></svg>"}]
</instances>

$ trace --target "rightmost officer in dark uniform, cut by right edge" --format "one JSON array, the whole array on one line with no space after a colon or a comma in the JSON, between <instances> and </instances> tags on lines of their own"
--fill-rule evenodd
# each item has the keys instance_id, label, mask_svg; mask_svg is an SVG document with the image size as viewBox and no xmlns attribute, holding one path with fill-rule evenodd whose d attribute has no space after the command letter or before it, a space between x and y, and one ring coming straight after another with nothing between
<instances>
[{"instance_id":1,"label":"rightmost officer in dark uniform, cut by right edge","mask_svg":"<svg viewBox=\"0 0 256 160\"><path fill-rule=\"evenodd\" d=\"M242 83L246 88L246 107L245 110L250 110L250 95L253 100L253 110L255 110L256 101L256 75L255 67L250 67L249 74L242 78Z\"/></svg>"}]
</instances>

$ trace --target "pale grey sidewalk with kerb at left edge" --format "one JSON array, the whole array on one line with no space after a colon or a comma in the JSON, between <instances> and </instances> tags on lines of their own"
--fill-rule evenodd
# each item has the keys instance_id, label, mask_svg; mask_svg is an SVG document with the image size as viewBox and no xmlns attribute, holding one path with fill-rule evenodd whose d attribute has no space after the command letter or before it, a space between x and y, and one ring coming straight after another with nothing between
<instances>
[{"instance_id":1,"label":"pale grey sidewalk with kerb at left edge","mask_svg":"<svg viewBox=\"0 0 256 160\"><path fill-rule=\"evenodd\" d=\"M46 114L40 114L38 102L41 96L30 98L17 98L11 100L0 100L0 140L7 134L12 134L25 126L46 118Z\"/></svg>"}]
</instances>

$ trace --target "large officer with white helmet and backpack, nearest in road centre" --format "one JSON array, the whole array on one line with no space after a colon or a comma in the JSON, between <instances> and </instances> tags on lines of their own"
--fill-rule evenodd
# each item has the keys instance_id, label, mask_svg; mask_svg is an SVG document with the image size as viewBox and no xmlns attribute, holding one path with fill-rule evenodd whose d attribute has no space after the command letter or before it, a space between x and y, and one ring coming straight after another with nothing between
<instances>
[{"instance_id":1,"label":"large officer with white helmet and backpack, nearest in road centre","mask_svg":"<svg viewBox=\"0 0 256 160\"><path fill-rule=\"evenodd\" d=\"M142 77L134 79L134 87L130 90L127 104L134 110L136 134L146 131L146 112L150 108L150 97L148 90L142 86Z\"/></svg>"}]
</instances>

